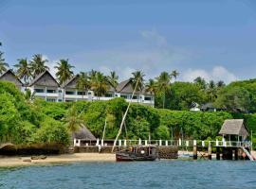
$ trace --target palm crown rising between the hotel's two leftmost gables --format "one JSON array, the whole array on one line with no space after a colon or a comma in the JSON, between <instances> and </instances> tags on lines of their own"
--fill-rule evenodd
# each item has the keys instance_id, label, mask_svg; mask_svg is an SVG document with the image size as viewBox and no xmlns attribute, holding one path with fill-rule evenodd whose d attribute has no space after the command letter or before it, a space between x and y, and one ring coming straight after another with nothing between
<instances>
[{"instance_id":1,"label":"palm crown rising between the hotel's two leftmost gables","mask_svg":"<svg viewBox=\"0 0 256 189\"><path fill-rule=\"evenodd\" d=\"M20 79L24 79L25 83L27 84L28 78L31 76L31 70L27 59L20 59L19 62L14 65L17 68L16 74L17 77Z\"/></svg>"}]
</instances>

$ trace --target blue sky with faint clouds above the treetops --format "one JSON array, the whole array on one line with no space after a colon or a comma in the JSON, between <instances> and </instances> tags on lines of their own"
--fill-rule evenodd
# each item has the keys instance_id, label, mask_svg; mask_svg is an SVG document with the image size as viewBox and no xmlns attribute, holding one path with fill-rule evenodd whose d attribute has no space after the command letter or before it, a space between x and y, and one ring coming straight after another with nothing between
<instances>
[{"instance_id":1,"label":"blue sky with faint clouds above the treetops","mask_svg":"<svg viewBox=\"0 0 256 189\"><path fill-rule=\"evenodd\" d=\"M192 81L255 78L254 0L0 0L0 48L9 65L40 53L119 79L142 70Z\"/></svg>"}]
</instances>

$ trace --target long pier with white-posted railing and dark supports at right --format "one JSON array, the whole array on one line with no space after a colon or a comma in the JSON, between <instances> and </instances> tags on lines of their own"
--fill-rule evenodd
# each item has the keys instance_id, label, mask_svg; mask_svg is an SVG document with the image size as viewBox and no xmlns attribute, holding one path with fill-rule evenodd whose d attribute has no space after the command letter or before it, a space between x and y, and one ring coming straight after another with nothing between
<instances>
[{"instance_id":1,"label":"long pier with white-posted railing and dark supports at right","mask_svg":"<svg viewBox=\"0 0 256 189\"><path fill-rule=\"evenodd\" d=\"M83 146L84 151L94 148L94 152L110 152L108 148L111 148L114 144L114 140L100 139L88 141L82 139L74 139L74 147L79 148ZM237 141L201 141L201 140L119 140L116 149L125 148L127 146L150 146L155 145L159 148L168 149L168 147L174 151L174 149L192 150L192 158L197 160L202 151L207 152L207 156L204 158L212 159L212 152L216 154L216 160L253 160L250 155L250 142L237 142ZM85 149L86 148L86 149ZM171 150L171 151L172 151ZM168 155L165 155L168 157ZM174 155L172 157L175 157Z\"/></svg>"}]
</instances>

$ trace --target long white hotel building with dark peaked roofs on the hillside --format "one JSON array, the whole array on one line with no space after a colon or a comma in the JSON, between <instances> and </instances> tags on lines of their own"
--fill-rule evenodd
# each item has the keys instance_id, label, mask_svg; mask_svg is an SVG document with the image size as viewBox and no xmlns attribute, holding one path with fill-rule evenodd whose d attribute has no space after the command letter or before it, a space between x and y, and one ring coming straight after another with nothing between
<instances>
[{"instance_id":1,"label":"long white hotel building with dark peaked roofs on the hillside","mask_svg":"<svg viewBox=\"0 0 256 189\"><path fill-rule=\"evenodd\" d=\"M18 79L14 73L9 70L0 76L0 80L8 80L13 82L22 92L25 91L26 86ZM95 96L93 91L89 90L85 93L76 88L76 83L78 76L73 77L66 82L65 85L61 86L58 81L51 76L51 74L46 71L39 76L35 77L27 85L27 89L31 92L35 92L35 96L46 99L50 102L65 102L78 101L78 100L109 100L114 97L123 97L126 101L131 101L134 103L141 103L148 106L155 105L154 94L142 91L140 93L135 93L133 99L131 99L133 94L133 87L130 79L124 80L119 83L117 91L110 88L104 96Z\"/></svg>"}]
</instances>

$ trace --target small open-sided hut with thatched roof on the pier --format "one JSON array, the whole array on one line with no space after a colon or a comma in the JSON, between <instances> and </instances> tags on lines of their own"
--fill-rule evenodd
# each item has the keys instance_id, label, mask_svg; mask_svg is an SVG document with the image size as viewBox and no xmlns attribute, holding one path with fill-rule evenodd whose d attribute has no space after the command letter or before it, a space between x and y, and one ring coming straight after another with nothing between
<instances>
[{"instance_id":1,"label":"small open-sided hut with thatched roof on the pier","mask_svg":"<svg viewBox=\"0 0 256 189\"><path fill-rule=\"evenodd\" d=\"M244 119L227 119L219 131L225 139L242 141L247 138L248 130Z\"/></svg>"}]
</instances>

